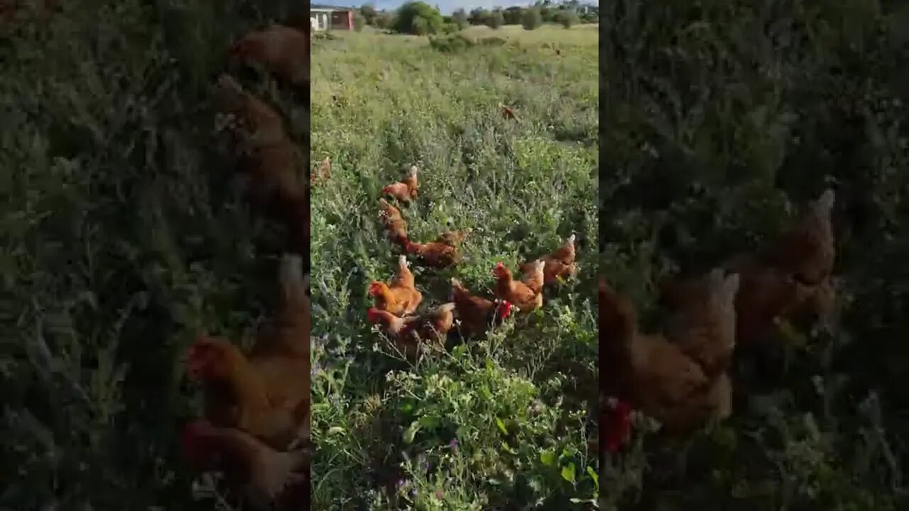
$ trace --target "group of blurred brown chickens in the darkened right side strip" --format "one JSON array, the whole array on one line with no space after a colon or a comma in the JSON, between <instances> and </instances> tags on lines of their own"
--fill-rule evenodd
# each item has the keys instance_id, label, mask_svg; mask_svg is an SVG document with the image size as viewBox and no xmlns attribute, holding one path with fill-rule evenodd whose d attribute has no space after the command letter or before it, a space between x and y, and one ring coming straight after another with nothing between
<instances>
[{"instance_id":1,"label":"group of blurred brown chickens in the darkened right side strip","mask_svg":"<svg viewBox=\"0 0 909 511\"><path fill-rule=\"evenodd\" d=\"M605 451L627 440L631 409L669 435L729 416L737 346L771 342L781 321L804 325L831 316L833 206L834 191L826 190L759 254L736 255L705 276L665 279L660 297L670 316L658 333L640 331L634 306L601 279L600 386L613 406L601 403Z\"/></svg>"}]
</instances>

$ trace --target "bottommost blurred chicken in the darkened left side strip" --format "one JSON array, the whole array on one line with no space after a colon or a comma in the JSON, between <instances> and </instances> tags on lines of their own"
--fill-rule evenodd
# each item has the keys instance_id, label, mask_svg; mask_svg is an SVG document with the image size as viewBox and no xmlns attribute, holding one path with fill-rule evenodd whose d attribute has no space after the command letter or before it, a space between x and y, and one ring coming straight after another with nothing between
<instances>
[{"instance_id":1,"label":"bottommost blurred chicken in the darkened left side strip","mask_svg":"<svg viewBox=\"0 0 909 511\"><path fill-rule=\"evenodd\" d=\"M232 427L197 419L183 431L186 461L202 471L223 472L257 509L300 509L308 504L309 455L277 451Z\"/></svg>"}]
</instances>

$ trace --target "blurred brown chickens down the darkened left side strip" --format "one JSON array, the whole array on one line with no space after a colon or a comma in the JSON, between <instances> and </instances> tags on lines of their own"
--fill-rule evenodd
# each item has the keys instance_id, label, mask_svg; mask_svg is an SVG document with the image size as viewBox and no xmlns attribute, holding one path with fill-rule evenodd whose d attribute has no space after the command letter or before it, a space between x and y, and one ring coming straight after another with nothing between
<instances>
[{"instance_id":1,"label":"blurred brown chickens down the darkened left side strip","mask_svg":"<svg viewBox=\"0 0 909 511\"><path fill-rule=\"evenodd\" d=\"M265 65L285 84L308 86L306 30L272 25L231 47L235 59ZM187 373L205 392L205 416L185 426L182 450L200 471L220 472L261 509L309 505L310 304L301 255L309 254L309 182L305 156L282 115L230 75L217 100L233 135L248 194L282 222L291 252L279 268L274 320L248 352L223 337L200 336L186 356Z\"/></svg>"}]
</instances>

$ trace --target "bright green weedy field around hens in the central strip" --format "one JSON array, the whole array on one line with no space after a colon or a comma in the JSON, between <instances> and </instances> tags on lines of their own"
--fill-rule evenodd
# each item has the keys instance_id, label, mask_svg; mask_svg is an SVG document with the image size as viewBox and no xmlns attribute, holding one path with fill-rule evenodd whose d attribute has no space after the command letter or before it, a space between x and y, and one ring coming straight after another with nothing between
<instances>
[{"instance_id":1,"label":"bright green weedy field around hens in the central strip","mask_svg":"<svg viewBox=\"0 0 909 511\"><path fill-rule=\"evenodd\" d=\"M469 36L477 44L369 31L314 43L311 159L333 161L312 195L314 508L595 498L597 32ZM488 293L497 261L514 268L573 233L579 277L542 312L416 366L400 359L366 321L366 287L395 271L376 201L411 164L411 237L474 229L462 264L415 269L424 306L447 301L452 276Z\"/></svg>"}]
</instances>

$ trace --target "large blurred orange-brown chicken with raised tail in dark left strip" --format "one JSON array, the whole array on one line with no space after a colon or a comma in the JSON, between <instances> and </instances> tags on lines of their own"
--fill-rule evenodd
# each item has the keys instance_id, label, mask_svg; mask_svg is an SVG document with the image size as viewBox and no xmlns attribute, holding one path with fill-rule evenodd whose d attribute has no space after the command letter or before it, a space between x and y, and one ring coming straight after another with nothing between
<instances>
[{"instance_id":1,"label":"large blurred orange-brown chicken with raised tail in dark left strip","mask_svg":"<svg viewBox=\"0 0 909 511\"><path fill-rule=\"evenodd\" d=\"M299 256L281 263L281 306L246 356L225 338L203 336L186 357L205 388L205 416L283 449L309 419L310 310Z\"/></svg>"}]
</instances>

